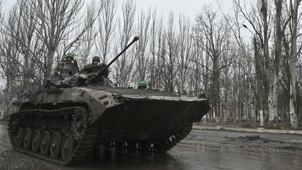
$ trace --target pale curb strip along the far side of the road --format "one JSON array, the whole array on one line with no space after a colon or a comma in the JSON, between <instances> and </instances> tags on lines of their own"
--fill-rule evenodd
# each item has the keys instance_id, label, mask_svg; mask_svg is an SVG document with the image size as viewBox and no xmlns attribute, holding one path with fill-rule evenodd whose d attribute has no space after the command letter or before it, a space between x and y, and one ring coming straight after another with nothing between
<instances>
[{"instance_id":1,"label":"pale curb strip along the far side of the road","mask_svg":"<svg viewBox=\"0 0 302 170\"><path fill-rule=\"evenodd\" d=\"M252 132L252 133L268 133L268 134L299 134L302 135L301 130L280 130L280 129L264 129L263 127L259 127L257 129L245 129L238 127L203 127L199 125L194 125L193 128L196 129L206 129L206 130L228 130L228 131L237 131L237 132Z\"/></svg>"}]
</instances>

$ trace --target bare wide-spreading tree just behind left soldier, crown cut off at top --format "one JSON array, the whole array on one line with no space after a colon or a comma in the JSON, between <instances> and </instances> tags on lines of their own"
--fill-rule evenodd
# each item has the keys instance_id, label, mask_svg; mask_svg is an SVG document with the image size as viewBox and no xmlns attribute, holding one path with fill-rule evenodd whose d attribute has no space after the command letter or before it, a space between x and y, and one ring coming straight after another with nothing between
<instances>
[{"instance_id":1,"label":"bare wide-spreading tree just behind left soldier, crown cut off at top","mask_svg":"<svg viewBox=\"0 0 302 170\"><path fill-rule=\"evenodd\" d=\"M47 0L36 1L30 0L29 6L32 11L35 11L37 16L36 32L38 38L45 44L45 77L50 77L52 72L52 64L55 59L55 52L59 48L60 43L70 38L72 31L75 31L76 26L84 25L78 33L75 33L75 38L69 41L66 45L64 53L69 50L75 43L77 43L89 27L92 27L96 20L96 14L92 17L90 22L82 20L80 13L82 13L81 0ZM91 15L91 14L89 14ZM92 15L93 16L93 15Z\"/></svg>"}]
</instances>

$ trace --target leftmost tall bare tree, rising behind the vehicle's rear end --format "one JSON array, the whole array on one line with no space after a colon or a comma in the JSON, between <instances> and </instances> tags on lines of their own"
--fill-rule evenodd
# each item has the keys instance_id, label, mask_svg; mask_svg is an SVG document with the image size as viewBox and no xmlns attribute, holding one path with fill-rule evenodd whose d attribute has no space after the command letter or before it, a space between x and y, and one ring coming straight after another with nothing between
<instances>
[{"instance_id":1,"label":"leftmost tall bare tree, rising behind the vehicle's rear end","mask_svg":"<svg viewBox=\"0 0 302 170\"><path fill-rule=\"evenodd\" d=\"M34 12L29 10L28 3L17 1L10 10L8 20L2 22L6 36L10 36L15 42L10 48L15 48L21 55L20 61L15 62L20 66L20 90L22 92L29 90L29 87L32 88L33 85L41 87L42 82L38 73L39 69L43 69L43 62L39 57L43 44L35 39L35 18Z\"/></svg>"}]
</instances>

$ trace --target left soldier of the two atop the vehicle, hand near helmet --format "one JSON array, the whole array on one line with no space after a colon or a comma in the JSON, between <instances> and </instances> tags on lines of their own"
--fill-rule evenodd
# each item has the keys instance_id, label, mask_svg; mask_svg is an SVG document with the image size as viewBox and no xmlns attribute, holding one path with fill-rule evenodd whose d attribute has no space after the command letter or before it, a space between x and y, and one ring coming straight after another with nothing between
<instances>
[{"instance_id":1,"label":"left soldier of the two atop the vehicle, hand near helmet","mask_svg":"<svg viewBox=\"0 0 302 170\"><path fill-rule=\"evenodd\" d=\"M78 63L74 59L75 55L68 53L65 55L65 60L59 62L57 68L55 69L55 75L73 76L78 73Z\"/></svg>"}]
</instances>

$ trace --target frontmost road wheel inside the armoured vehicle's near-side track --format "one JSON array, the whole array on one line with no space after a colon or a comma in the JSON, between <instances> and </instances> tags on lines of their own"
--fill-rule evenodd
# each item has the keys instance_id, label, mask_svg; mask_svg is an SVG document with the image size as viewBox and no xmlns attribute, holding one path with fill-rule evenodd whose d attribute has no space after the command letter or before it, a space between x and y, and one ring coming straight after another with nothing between
<instances>
[{"instance_id":1,"label":"frontmost road wheel inside the armoured vehicle's near-side track","mask_svg":"<svg viewBox=\"0 0 302 170\"><path fill-rule=\"evenodd\" d=\"M61 148L62 158L65 161L71 159L74 149L73 146L74 146L73 136L71 135L71 133L65 134L62 141L62 148Z\"/></svg>"}]
</instances>

